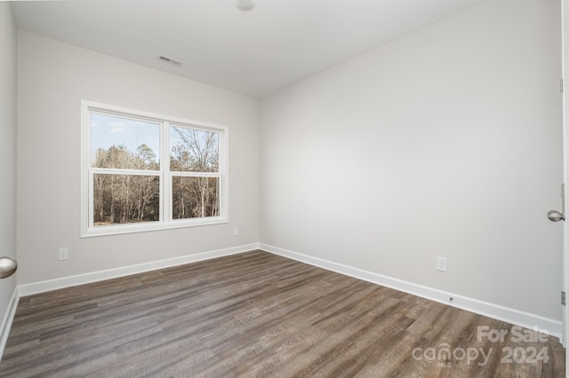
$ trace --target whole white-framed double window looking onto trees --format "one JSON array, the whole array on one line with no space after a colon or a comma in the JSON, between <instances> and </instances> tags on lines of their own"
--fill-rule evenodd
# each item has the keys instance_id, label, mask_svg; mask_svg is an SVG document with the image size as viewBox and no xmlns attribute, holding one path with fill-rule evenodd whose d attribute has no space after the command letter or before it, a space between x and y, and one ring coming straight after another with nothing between
<instances>
[{"instance_id":1,"label":"whole white-framed double window looking onto trees","mask_svg":"<svg viewBox=\"0 0 569 378\"><path fill-rule=\"evenodd\" d=\"M228 221L225 127L82 102L82 236Z\"/></svg>"}]
</instances>

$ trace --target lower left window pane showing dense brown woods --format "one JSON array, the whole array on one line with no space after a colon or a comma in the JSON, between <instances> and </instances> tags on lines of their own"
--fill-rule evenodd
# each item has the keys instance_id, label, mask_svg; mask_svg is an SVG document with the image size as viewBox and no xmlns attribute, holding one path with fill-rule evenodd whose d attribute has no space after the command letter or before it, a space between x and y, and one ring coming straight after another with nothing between
<instances>
[{"instance_id":1,"label":"lower left window pane showing dense brown woods","mask_svg":"<svg viewBox=\"0 0 569 378\"><path fill-rule=\"evenodd\" d=\"M94 174L92 214L95 226L160 220L160 178Z\"/></svg>"}]
</instances>

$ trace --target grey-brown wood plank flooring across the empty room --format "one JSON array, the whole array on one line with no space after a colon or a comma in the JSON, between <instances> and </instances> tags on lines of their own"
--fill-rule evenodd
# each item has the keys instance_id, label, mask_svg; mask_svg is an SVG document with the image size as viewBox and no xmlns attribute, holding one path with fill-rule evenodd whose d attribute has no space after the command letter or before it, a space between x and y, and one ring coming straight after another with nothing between
<instances>
[{"instance_id":1,"label":"grey-brown wood plank flooring across the empty room","mask_svg":"<svg viewBox=\"0 0 569 378\"><path fill-rule=\"evenodd\" d=\"M0 376L565 376L556 337L517 331L253 251L23 297Z\"/></svg>"}]
</instances>

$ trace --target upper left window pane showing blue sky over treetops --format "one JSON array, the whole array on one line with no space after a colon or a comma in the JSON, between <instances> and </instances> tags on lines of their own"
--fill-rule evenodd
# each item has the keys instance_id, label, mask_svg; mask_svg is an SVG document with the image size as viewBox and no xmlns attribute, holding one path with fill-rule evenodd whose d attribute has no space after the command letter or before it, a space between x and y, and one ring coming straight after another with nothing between
<instances>
[{"instance_id":1,"label":"upper left window pane showing blue sky over treetops","mask_svg":"<svg viewBox=\"0 0 569 378\"><path fill-rule=\"evenodd\" d=\"M160 124L91 114L92 167L160 169Z\"/></svg>"}]
</instances>

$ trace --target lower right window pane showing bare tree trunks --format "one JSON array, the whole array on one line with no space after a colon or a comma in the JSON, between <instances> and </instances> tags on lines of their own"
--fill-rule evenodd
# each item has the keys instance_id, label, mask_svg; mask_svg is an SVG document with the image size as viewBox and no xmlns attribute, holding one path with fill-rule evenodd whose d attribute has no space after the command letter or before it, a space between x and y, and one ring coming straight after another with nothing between
<instances>
[{"instance_id":1,"label":"lower right window pane showing bare tree trunks","mask_svg":"<svg viewBox=\"0 0 569 378\"><path fill-rule=\"evenodd\" d=\"M219 178L172 177L172 218L220 215Z\"/></svg>"}]
</instances>

